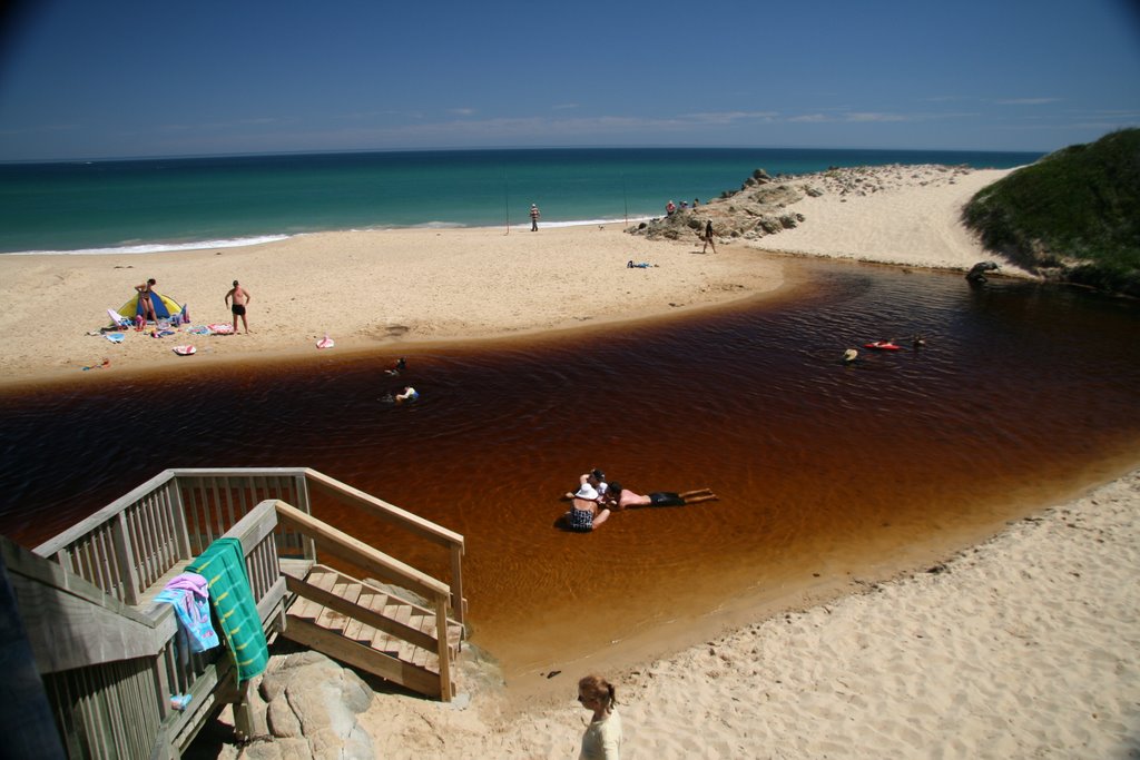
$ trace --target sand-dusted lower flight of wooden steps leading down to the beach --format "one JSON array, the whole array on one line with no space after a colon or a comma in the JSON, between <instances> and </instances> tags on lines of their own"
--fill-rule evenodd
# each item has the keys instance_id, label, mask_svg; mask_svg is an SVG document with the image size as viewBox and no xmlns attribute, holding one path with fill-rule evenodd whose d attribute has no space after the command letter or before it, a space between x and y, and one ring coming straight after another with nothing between
<instances>
[{"instance_id":1,"label":"sand-dusted lower flight of wooden steps leading down to the beach","mask_svg":"<svg viewBox=\"0 0 1140 760\"><path fill-rule=\"evenodd\" d=\"M286 638L427 696L455 694L454 683L449 694L441 689L434 610L325 565L314 565L303 579L287 577L286 583L296 595L286 612ZM451 661L462 640L463 626L448 620Z\"/></svg>"}]
</instances>

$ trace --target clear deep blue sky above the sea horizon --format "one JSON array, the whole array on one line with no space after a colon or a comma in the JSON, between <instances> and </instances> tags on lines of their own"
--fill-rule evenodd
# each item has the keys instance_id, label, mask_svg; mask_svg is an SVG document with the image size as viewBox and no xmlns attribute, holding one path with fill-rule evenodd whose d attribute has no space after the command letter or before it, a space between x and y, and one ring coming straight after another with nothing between
<instances>
[{"instance_id":1,"label":"clear deep blue sky above the sea horizon","mask_svg":"<svg viewBox=\"0 0 1140 760\"><path fill-rule=\"evenodd\" d=\"M443 147L1053 150L1140 125L1132 0L40 0L0 161Z\"/></svg>"}]
</instances>

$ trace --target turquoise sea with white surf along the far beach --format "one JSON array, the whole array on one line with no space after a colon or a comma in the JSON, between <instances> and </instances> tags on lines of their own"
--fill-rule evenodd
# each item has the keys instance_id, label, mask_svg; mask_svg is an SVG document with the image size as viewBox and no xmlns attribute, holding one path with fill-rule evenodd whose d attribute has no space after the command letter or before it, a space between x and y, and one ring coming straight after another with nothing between
<instances>
[{"instance_id":1,"label":"turquoise sea with white surf along the far beach","mask_svg":"<svg viewBox=\"0 0 1140 760\"><path fill-rule=\"evenodd\" d=\"M0 253L222 247L304 232L621 221L716 197L755 170L968 164L1039 153L567 148L0 164Z\"/></svg>"}]
</instances>

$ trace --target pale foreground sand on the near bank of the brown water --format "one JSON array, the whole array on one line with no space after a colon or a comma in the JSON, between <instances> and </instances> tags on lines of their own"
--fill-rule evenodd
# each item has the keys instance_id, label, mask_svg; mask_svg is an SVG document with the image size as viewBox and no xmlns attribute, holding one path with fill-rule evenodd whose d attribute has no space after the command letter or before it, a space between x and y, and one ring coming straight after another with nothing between
<instances>
[{"instance_id":1,"label":"pale foreground sand on the near bank of the brown water","mask_svg":"<svg viewBox=\"0 0 1140 760\"><path fill-rule=\"evenodd\" d=\"M1138 501L1140 471L925 572L606 673L622 757L1137 757ZM577 676L522 713L377 694L361 726L384 758L575 757Z\"/></svg>"}]
</instances>

